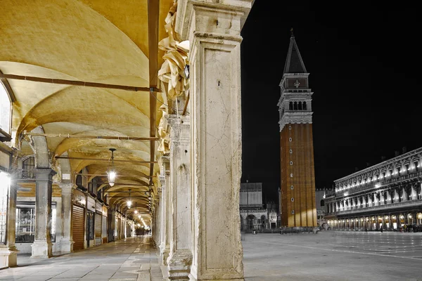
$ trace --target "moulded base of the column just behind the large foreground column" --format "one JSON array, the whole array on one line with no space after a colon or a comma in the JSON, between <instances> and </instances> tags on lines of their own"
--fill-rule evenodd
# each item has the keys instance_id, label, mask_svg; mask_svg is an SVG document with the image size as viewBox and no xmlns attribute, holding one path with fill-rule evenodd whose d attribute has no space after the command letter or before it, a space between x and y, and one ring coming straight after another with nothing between
<instances>
[{"instance_id":1,"label":"moulded base of the column just behind the large foreground column","mask_svg":"<svg viewBox=\"0 0 422 281\"><path fill-rule=\"evenodd\" d=\"M175 251L167 259L167 280L189 280L191 273L192 253L188 249Z\"/></svg>"}]
</instances>

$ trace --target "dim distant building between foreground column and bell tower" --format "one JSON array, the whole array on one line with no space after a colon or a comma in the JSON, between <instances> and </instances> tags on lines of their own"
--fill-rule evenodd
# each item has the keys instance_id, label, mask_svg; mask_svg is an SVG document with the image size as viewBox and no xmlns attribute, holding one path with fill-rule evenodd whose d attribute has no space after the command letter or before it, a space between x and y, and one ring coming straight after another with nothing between
<instances>
[{"instance_id":1,"label":"dim distant building between foreground column and bell tower","mask_svg":"<svg viewBox=\"0 0 422 281\"><path fill-rule=\"evenodd\" d=\"M278 210L278 204L262 202L262 183L241 183L241 230L277 228Z\"/></svg>"}]
</instances>

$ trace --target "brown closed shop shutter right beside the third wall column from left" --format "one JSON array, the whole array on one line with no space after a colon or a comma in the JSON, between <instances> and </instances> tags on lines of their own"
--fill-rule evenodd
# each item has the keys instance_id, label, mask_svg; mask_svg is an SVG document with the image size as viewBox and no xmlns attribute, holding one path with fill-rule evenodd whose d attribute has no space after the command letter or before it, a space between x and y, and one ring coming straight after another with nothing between
<instances>
[{"instance_id":1,"label":"brown closed shop shutter right beside the third wall column from left","mask_svg":"<svg viewBox=\"0 0 422 281\"><path fill-rule=\"evenodd\" d=\"M80 190L73 190L72 240L73 251L84 249L85 207L87 196Z\"/></svg>"}]
</instances>

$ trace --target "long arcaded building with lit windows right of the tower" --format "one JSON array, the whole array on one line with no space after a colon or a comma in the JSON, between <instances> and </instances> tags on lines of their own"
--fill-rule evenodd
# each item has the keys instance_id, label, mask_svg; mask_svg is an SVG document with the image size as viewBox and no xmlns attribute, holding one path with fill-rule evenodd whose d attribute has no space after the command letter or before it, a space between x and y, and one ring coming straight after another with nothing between
<instances>
[{"instance_id":1,"label":"long arcaded building with lit windows right of the tower","mask_svg":"<svg viewBox=\"0 0 422 281\"><path fill-rule=\"evenodd\" d=\"M326 221L333 229L416 230L422 224L421 183L422 148L403 151L334 181Z\"/></svg>"}]
</instances>

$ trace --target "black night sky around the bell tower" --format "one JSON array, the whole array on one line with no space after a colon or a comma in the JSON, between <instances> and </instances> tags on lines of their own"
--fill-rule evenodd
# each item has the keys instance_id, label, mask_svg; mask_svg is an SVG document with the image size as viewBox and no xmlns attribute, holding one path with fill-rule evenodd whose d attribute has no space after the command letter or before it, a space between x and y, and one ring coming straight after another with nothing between
<instances>
[{"instance_id":1,"label":"black night sky around the bell tower","mask_svg":"<svg viewBox=\"0 0 422 281\"><path fill-rule=\"evenodd\" d=\"M418 9L385 3L255 1L241 33L242 182L262 182L264 200L276 201L280 186L277 103L290 27L314 92L316 188L422 146Z\"/></svg>"}]
</instances>

